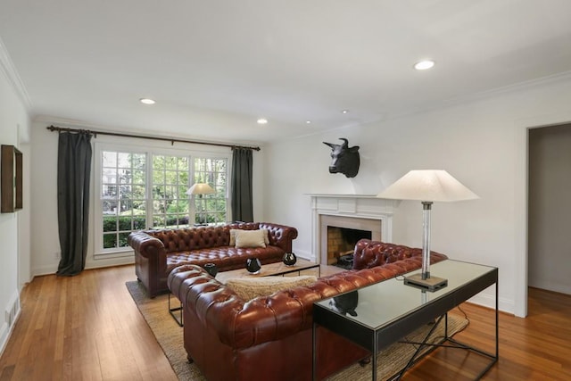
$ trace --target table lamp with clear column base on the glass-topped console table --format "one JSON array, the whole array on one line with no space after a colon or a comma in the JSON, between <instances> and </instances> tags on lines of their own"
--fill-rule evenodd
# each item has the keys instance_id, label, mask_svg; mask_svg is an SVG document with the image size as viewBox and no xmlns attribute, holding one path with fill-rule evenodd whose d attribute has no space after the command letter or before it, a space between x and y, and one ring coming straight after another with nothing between
<instances>
[{"instance_id":1,"label":"table lamp with clear column base on the glass-topped console table","mask_svg":"<svg viewBox=\"0 0 571 381\"><path fill-rule=\"evenodd\" d=\"M448 279L430 276L430 210L434 202L451 203L479 198L445 170L410 170L393 185L377 195L379 198L417 200L423 207L424 234L422 271L405 277L404 284L434 292L448 286Z\"/></svg>"}]
</instances>

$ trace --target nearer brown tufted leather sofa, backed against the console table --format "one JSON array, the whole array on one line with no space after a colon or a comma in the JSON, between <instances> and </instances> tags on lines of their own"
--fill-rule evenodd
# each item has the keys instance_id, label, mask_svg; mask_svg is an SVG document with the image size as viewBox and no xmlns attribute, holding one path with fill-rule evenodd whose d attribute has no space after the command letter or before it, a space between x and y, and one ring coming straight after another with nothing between
<instances>
[{"instance_id":1,"label":"nearer brown tufted leather sofa, backed against the console table","mask_svg":"<svg viewBox=\"0 0 571 381\"><path fill-rule=\"evenodd\" d=\"M447 257L431 253L431 261ZM327 297L420 269L422 250L360 240L353 269L244 302L203 269L174 269L169 288L183 304L184 344L208 380L310 380L312 306ZM318 328L319 379L366 358L357 344Z\"/></svg>"}]
</instances>

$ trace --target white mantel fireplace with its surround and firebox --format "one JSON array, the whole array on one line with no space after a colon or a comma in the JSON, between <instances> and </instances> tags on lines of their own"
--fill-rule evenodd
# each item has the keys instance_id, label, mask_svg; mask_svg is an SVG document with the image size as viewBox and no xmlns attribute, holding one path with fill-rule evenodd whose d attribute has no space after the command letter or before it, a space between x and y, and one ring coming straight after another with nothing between
<instances>
[{"instance_id":1,"label":"white mantel fireplace with its surround and firebox","mask_svg":"<svg viewBox=\"0 0 571 381\"><path fill-rule=\"evenodd\" d=\"M392 242L393 210L398 201L374 195L310 196L315 261L334 264L338 256L352 252L360 238Z\"/></svg>"}]
</instances>

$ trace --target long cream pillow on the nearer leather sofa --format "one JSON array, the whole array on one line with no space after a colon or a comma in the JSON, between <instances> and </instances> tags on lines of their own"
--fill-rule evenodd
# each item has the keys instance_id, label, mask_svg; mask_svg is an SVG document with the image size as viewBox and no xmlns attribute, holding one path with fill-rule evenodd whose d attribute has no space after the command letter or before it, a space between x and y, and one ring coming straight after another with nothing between
<instances>
[{"instance_id":1,"label":"long cream pillow on the nearer leather sofa","mask_svg":"<svg viewBox=\"0 0 571 381\"><path fill-rule=\"evenodd\" d=\"M312 275L299 277L231 277L226 285L244 299L251 301L258 296L268 296L277 291L287 290L297 286L310 286L318 280Z\"/></svg>"}]
</instances>

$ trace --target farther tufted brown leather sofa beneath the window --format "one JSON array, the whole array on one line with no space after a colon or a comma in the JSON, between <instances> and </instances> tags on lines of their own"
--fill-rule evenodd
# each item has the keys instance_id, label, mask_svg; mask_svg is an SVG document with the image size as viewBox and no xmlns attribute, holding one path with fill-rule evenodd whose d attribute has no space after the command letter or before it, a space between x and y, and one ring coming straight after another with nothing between
<instances>
[{"instance_id":1,"label":"farther tufted brown leather sofa beneath the window","mask_svg":"<svg viewBox=\"0 0 571 381\"><path fill-rule=\"evenodd\" d=\"M230 229L269 230L265 248L230 246ZM135 272L150 297L168 291L167 277L184 264L203 266L215 263L220 271L240 269L246 259L256 257L261 264L282 261L292 253L295 228L267 222L247 222L223 226L137 231L129 234L128 244L135 251Z\"/></svg>"}]
</instances>

